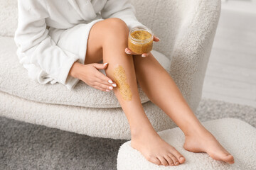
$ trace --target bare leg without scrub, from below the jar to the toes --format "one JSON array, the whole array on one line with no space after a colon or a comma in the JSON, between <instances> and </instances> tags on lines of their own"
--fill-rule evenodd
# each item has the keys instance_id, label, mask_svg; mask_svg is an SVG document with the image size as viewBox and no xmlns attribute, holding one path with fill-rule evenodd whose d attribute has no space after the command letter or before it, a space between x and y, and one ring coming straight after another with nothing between
<instances>
[{"instance_id":1,"label":"bare leg without scrub, from below the jar to the toes","mask_svg":"<svg viewBox=\"0 0 256 170\"><path fill-rule=\"evenodd\" d=\"M191 152L207 152L213 159L233 164L233 156L201 125L174 80L154 56L150 53L149 57L134 55L133 58L139 85L184 132L183 147Z\"/></svg>"}]
</instances>

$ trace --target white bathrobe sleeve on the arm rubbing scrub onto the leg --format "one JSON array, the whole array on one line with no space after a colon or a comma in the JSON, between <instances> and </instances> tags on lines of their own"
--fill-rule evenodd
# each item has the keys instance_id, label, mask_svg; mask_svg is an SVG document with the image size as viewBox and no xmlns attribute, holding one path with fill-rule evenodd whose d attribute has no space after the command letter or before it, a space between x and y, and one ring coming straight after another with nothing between
<instances>
[{"instance_id":1,"label":"white bathrobe sleeve on the arm rubbing scrub onto the leg","mask_svg":"<svg viewBox=\"0 0 256 170\"><path fill-rule=\"evenodd\" d=\"M18 0L18 27L14 36L18 59L38 83L58 81L71 89L77 79L70 78L68 73L78 56L63 51L51 39L46 28L48 16L44 0Z\"/></svg>"}]
</instances>

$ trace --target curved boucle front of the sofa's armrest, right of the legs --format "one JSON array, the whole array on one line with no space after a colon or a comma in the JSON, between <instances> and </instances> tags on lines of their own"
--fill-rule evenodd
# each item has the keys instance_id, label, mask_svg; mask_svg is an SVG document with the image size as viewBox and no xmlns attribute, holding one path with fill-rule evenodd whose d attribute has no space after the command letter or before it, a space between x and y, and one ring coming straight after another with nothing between
<instances>
[{"instance_id":1,"label":"curved boucle front of the sofa's armrest, right of the legs","mask_svg":"<svg viewBox=\"0 0 256 170\"><path fill-rule=\"evenodd\" d=\"M171 54L171 77L196 112L220 17L220 0L193 1Z\"/></svg>"}]
</instances>

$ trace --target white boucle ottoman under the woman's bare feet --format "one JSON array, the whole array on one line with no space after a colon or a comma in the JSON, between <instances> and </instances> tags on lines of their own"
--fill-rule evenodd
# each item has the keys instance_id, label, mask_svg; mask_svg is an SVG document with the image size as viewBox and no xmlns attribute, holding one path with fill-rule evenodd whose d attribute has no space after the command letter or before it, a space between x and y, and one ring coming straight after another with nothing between
<instances>
[{"instance_id":1,"label":"white boucle ottoman under the woman's bare feet","mask_svg":"<svg viewBox=\"0 0 256 170\"><path fill-rule=\"evenodd\" d=\"M117 155L117 170L158 170L158 169L217 169L217 170L255 170L256 169L256 129L235 118L210 120L203 123L225 149L233 154L235 164L216 161L206 153L193 153L183 149L185 140L179 128L158 132L170 145L174 146L186 158L178 166L156 165L131 147L131 141L125 142Z\"/></svg>"}]
</instances>

